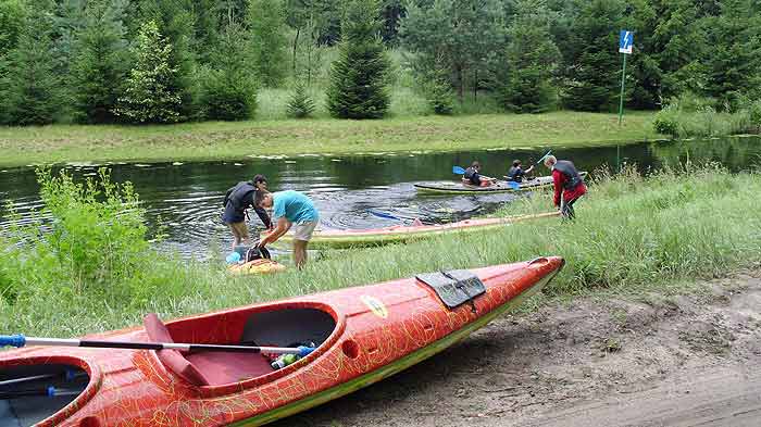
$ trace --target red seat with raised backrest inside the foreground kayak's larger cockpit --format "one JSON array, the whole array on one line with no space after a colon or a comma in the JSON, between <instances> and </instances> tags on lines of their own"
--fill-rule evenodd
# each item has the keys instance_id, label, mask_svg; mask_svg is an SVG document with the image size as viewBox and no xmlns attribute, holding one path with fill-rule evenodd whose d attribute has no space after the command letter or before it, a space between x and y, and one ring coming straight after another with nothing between
<instances>
[{"instance_id":1,"label":"red seat with raised backrest inside the foreground kayak's larger cockpit","mask_svg":"<svg viewBox=\"0 0 761 427\"><path fill-rule=\"evenodd\" d=\"M153 342L174 342L166 325L155 315L146 315L144 325ZM195 386L221 386L258 377L272 371L259 353L199 352L183 355L177 350L159 350L161 363Z\"/></svg>"}]
</instances>

